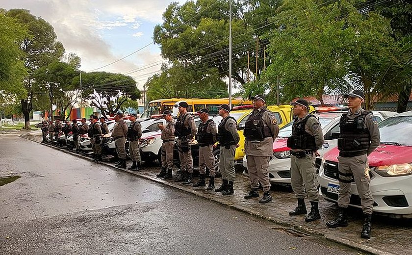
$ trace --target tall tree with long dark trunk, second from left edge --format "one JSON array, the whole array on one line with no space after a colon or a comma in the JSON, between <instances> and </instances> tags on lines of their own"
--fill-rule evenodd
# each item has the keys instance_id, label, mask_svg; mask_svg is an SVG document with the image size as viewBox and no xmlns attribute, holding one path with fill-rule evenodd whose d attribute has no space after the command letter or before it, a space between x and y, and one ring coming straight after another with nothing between
<instances>
[{"instance_id":1,"label":"tall tree with long dark trunk, second from left edge","mask_svg":"<svg viewBox=\"0 0 412 255\"><path fill-rule=\"evenodd\" d=\"M56 41L53 27L42 18L30 14L28 10L10 9L6 15L15 18L21 24L25 24L30 31L30 36L25 36L19 42L21 49L26 53L23 61L28 69L24 79L27 94L21 100L21 104L25 117L25 128L30 129L30 111L33 109L34 92L37 90L33 78L34 71L60 59L64 48L60 42Z\"/></svg>"}]
</instances>

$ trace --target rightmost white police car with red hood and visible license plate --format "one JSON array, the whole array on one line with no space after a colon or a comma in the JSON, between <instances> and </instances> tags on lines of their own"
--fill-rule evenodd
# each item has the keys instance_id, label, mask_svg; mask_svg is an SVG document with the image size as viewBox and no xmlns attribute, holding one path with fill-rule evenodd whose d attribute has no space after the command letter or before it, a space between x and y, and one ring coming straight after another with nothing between
<instances>
[{"instance_id":1,"label":"rightmost white police car with red hood and visible license plate","mask_svg":"<svg viewBox=\"0 0 412 255\"><path fill-rule=\"evenodd\" d=\"M412 217L412 111L399 113L378 124L381 144L368 156L373 210L391 217ZM320 194L337 203L339 151L325 153L319 171ZM352 182L350 205L360 208L356 184Z\"/></svg>"}]
</instances>

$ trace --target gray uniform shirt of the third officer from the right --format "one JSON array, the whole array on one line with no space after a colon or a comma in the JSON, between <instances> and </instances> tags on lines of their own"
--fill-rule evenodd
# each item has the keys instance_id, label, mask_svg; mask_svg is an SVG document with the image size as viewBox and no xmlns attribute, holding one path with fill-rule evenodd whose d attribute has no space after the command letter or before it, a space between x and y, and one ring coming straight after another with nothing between
<instances>
[{"instance_id":1,"label":"gray uniform shirt of the third officer from the right","mask_svg":"<svg viewBox=\"0 0 412 255\"><path fill-rule=\"evenodd\" d=\"M249 116L257 115L264 109L266 109L264 106L257 110L254 109ZM266 137L263 141L245 141L246 155L268 157L273 154L273 141L279 134L278 122L275 115L271 111L263 112L262 122L264 127L268 127L270 129L272 136Z\"/></svg>"}]
</instances>

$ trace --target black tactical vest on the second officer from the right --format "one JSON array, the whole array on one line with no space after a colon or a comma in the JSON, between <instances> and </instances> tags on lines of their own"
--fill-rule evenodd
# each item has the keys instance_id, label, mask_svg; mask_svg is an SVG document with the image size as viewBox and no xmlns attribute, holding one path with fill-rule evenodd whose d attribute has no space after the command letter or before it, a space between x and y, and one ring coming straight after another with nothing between
<instances>
[{"instance_id":1,"label":"black tactical vest on the second officer from the right","mask_svg":"<svg viewBox=\"0 0 412 255\"><path fill-rule=\"evenodd\" d=\"M302 121L295 120L292 125L292 135L287 138L287 147L290 149L311 150L316 151L315 137L305 131L306 123L309 118L316 116L309 114Z\"/></svg>"}]
</instances>

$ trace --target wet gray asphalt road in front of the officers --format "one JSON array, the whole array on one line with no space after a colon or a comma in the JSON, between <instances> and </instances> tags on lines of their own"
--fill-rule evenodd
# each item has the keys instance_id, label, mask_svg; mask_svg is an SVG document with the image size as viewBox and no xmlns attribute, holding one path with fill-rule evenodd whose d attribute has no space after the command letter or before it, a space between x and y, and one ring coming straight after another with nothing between
<instances>
[{"instance_id":1,"label":"wet gray asphalt road in front of the officers","mask_svg":"<svg viewBox=\"0 0 412 255\"><path fill-rule=\"evenodd\" d=\"M0 177L21 176L0 186L0 254L357 254L24 138L0 140Z\"/></svg>"}]
</instances>

